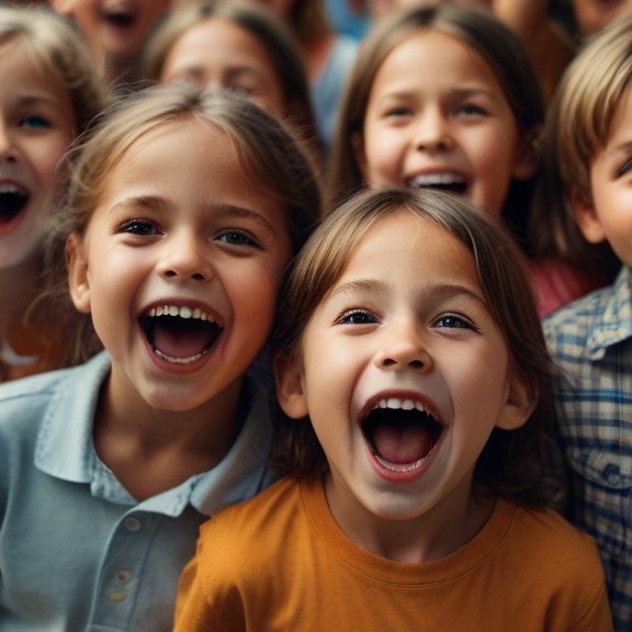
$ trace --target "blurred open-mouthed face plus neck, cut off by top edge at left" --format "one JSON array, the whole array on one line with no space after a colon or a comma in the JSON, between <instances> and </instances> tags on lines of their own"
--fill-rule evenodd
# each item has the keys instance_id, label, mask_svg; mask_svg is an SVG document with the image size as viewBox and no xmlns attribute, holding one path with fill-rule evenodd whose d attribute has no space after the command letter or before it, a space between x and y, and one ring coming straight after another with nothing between
<instances>
[{"instance_id":1,"label":"blurred open-mouthed face plus neck, cut off by top edge at left","mask_svg":"<svg viewBox=\"0 0 632 632\"><path fill-rule=\"evenodd\" d=\"M168 12L170 0L47 0L72 20L104 83L134 87L140 79L143 47Z\"/></svg>"}]
</instances>

